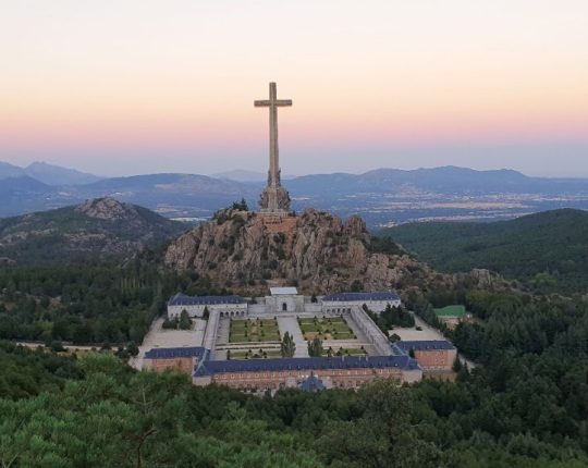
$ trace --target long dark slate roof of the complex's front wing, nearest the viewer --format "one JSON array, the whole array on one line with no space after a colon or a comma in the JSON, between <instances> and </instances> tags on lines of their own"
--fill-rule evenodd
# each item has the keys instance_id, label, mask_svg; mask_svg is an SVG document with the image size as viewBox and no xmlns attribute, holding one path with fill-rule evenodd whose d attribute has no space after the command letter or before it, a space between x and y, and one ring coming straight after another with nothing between
<instances>
[{"instance_id":1,"label":"long dark slate roof of the complex's front wing, nearest the viewer","mask_svg":"<svg viewBox=\"0 0 588 468\"><path fill-rule=\"evenodd\" d=\"M203 361L196 369L196 377L231 372L262 372L278 370L324 370L358 368L399 368L402 370L419 369L415 359L406 354L399 356L347 356L347 357L299 357L244 360Z\"/></svg>"}]
</instances>

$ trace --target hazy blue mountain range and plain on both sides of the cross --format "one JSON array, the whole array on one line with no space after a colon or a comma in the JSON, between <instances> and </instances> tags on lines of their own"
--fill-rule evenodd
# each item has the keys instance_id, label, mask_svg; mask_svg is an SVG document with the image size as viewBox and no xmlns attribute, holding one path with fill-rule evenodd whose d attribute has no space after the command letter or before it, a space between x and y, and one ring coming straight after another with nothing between
<instances>
[{"instance_id":1,"label":"hazy blue mountain range and plain on both sides of the cross","mask_svg":"<svg viewBox=\"0 0 588 468\"><path fill-rule=\"evenodd\" d=\"M231 178L233 177L233 178ZM497 220L558 208L588 208L588 180L530 177L512 170L444 167L363 174L310 174L283 181L296 211L360 214L370 227L408 221ZM207 176L163 173L100 178L34 163L0 164L0 217L115 197L172 219L210 219L245 198L257 207L265 177L250 171Z\"/></svg>"}]
</instances>

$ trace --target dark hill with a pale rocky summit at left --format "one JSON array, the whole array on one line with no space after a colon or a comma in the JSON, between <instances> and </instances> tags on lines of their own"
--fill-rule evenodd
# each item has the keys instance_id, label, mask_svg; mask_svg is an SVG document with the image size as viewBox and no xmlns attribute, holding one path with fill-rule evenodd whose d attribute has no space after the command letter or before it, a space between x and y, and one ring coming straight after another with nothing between
<instances>
[{"instance_id":1,"label":"dark hill with a pale rocky summit at left","mask_svg":"<svg viewBox=\"0 0 588 468\"><path fill-rule=\"evenodd\" d=\"M125 258L187 226L135 205L100 198L0 220L0 262Z\"/></svg>"}]
</instances>

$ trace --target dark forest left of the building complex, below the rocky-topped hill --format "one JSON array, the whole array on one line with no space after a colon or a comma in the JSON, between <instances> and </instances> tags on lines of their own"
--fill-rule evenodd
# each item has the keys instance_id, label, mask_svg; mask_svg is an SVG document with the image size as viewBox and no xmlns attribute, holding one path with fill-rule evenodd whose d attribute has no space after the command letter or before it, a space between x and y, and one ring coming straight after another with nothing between
<instances>
[{"instance_id":1,"label":"dark forest left of the building complex, below the rocky-topped hill","mask_svg":"<svg viewBox=\"0 0 588 468\"><path fill-rule=\"evenodd\" d=\"M50 344L140 343L177 291L225 294L195 272L162 271L143 257L124 267L73 262L0 270L0 340Z\"/></svg>"}]
</instances>

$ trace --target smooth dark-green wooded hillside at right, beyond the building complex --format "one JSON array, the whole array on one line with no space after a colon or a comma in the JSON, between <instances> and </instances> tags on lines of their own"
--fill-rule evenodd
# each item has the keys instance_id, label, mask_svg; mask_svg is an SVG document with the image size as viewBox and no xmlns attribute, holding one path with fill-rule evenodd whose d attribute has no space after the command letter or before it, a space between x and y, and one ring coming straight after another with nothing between
<instances>
[{"instance_id":1,"label":"smooth dark-green wooded hillside at right, beyond the building complex","mask_svg":"<svg viewBox=\"0 0 588 468\"><path fill-rule=\"evenodd\" d=\"M588 212L546 211L492 223L412 223L383 230L440 271L487 268L543 291L588 288Z\"/></svg>"}]
</instances>

